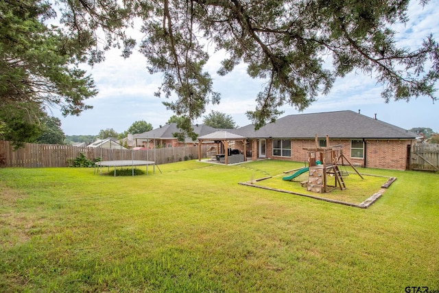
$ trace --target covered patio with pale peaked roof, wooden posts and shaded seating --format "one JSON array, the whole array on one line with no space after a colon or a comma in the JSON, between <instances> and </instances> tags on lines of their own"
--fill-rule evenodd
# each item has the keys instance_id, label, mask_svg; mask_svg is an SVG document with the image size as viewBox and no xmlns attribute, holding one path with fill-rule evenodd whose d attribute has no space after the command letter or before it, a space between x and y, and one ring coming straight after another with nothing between
<instances>
[{"instance_id":1,"label":"covered patio with pale peaked roof, wooden posts and shaded seating","mask_svg":"<svg viewBox=\"0 0 439 293\"><path fill-rule=\"evenodd\" d=\"M246 137L243 137L238 134L233 134L227 131L215 131L210 134L203 135L202 137L198 137L198 161L201 161L201 145L204 142L212 141L217 144L216 148L216 160L220 163L224 163L226 165L233 163L241 163L247 161L246 158ZM229 148L230 141L239 141L244 146L243 153L238 150L231 150Z\"/></svg>"}]
</instances>

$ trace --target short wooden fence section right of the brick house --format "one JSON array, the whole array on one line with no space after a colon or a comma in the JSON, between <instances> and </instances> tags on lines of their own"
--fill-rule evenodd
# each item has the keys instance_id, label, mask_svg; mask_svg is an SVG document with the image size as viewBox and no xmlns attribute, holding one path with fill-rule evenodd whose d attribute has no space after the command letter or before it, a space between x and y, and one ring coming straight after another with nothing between
<instances>
[{"instance_id":1,"label":"short wooden fence section right of the brick house","mask_svg":"<svg viewBox=\"0 0 439 293\"><path fill-rule=\"evenodd\" d=\"M439 144L418 143L412 146L410 169L439 171Z\"/></svg>"}]
</instances>

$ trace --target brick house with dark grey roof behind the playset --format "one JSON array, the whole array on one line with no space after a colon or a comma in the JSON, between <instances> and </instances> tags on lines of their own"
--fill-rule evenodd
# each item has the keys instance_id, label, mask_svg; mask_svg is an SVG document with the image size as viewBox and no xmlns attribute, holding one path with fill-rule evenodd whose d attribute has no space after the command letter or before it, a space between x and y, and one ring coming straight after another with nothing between
<instances>
[{"instance_id":1,"label":"brick house with dark grey roof behind the playset","mask_svg":"<svg viewBox=\"0 0 439 293\"><path fill-rule=\"evenodd\" d=\"M410 148L417 137L414 132L351 110L289 115L256 131L252 125L229 131L247 137L252 160L307 161L304 148L315 147L318 134L318 147L342 145L353 165L401 170L409 165Z\"/></svg>"}]
</instances>

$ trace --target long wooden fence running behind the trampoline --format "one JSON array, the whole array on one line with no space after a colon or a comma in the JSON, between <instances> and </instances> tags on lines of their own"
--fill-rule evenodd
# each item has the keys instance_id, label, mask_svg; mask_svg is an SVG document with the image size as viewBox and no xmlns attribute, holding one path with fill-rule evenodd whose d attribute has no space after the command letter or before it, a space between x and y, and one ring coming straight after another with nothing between
<instances>
[{"instance_id":1,"label":"long wooden fence running behind the trampoline","mask_svg":"<svg viewBox=\"0 0 439 293\"><path fill-rule=\"evenodd\" d=\"M202 145L202 158L208 146ZM198 146L182 148L158 148L152 150L120 150L104 148L79 148L72 145L47 145L26 143L24 148L14 150L10 141L0 141L1 167L69 167L71 161L83 153L87 159L101 161L143 160L155 161L157 165L198 159Z\"/></svg>"}]
</instances>

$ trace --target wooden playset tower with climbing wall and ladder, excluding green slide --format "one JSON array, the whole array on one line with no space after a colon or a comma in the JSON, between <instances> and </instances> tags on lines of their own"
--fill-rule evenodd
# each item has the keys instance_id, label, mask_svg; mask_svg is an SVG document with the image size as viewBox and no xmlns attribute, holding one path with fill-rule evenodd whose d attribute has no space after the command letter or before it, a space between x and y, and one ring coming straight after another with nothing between
<instances>
[{"instance_id":1,"label":"wooden playset tower with climbing wall and ladder, excluding green slide","mask_svg":"<svg viewBox=\"0 0 439 293\"><path fill-rule=\"evenodd\" d=\"M329 136L326 136L327 147L319 147L318 134L316 134L316 147L303 148L308 151L309 161L309 176L307 181L307 190L316 193L327 193L340 187L341 190L346 189L344 184L342 172L340 172L339 165L344 165L344 161L351 165L355 172L359 174L357 169L343 154L342 145L329 146ZM333 185L331 185L331 178L333 178Z\"/></svg>"}]
</instances>

